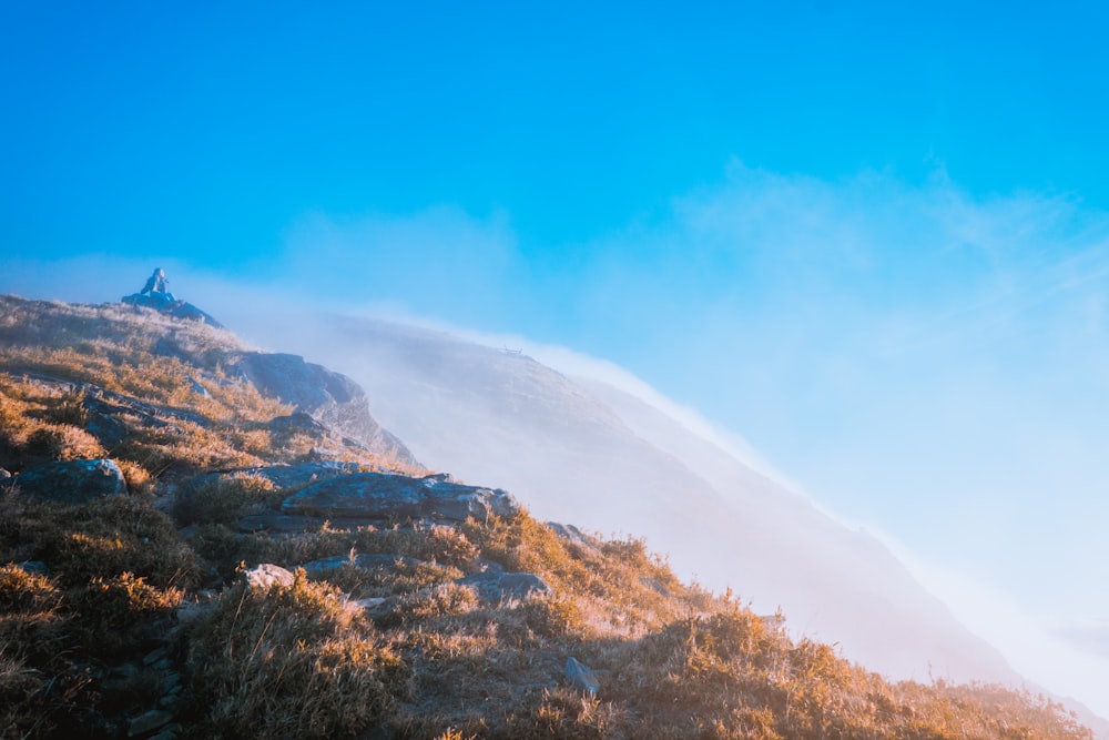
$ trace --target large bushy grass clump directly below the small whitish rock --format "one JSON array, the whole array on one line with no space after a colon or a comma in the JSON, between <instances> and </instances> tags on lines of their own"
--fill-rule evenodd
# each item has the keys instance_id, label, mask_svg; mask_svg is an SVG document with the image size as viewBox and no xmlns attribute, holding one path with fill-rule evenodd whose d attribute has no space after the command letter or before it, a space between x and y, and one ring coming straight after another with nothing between
<instances>
[{"instance_id":1,"label":"large bushy grass clump directly below the small whitish rock","mask_svg":"<svg viewBox=\"0 0 1109 740\"><path fill-rule=\"evenodd\" d=\"M231 589L197 626L189 665L193 737L354 737L391 712L401 661L304 571L292 586Z\"/></svg>"}]
</instances>

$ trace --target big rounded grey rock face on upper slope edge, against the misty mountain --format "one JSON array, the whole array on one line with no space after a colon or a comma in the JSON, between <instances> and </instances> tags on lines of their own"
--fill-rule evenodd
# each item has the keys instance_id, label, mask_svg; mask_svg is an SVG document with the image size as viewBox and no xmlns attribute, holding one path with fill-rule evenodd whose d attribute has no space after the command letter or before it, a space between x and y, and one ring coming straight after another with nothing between
<instances>
[{"instance_id":1,"label":"big rounded grey rock face on upper slope edge, against the misty mountain","mask_svg":"<svg viewBox=\"0 0 1109 740\"><path fill-rule=\"evenodd\" d=\"M369 449L391 454L406 463L416 463L404 443L374 419L365 392L347 376L305 362L298 355L262 352L241 354L231 369L238 372L262 393L293 404L298 412L311 415ZM293 419L286 423L292 424Z\"/></svg>"}]
</instances>

